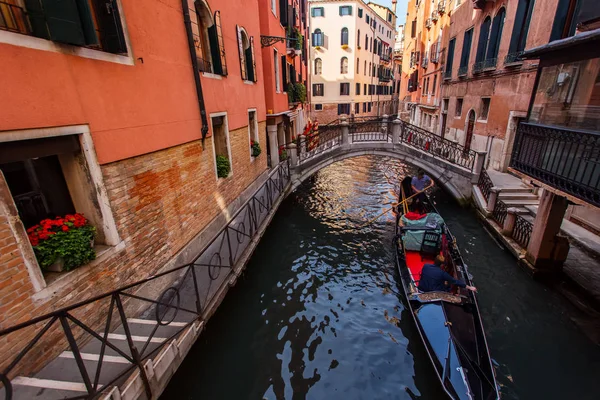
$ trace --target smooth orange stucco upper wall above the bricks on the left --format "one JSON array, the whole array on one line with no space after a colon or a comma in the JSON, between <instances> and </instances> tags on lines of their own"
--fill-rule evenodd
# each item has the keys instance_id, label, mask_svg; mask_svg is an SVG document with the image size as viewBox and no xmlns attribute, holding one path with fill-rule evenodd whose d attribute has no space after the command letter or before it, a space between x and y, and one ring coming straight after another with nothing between
<instances>
[{"instance_id":1,"label":"smooth orange stucco upper wall above the bricks on the left","mask_svg":"<svg viewBox=\"0 0 600 400\"><path fill-rule=\"evenodd\" d=\"M0 71L9 78L2 79L2 90L10 94L0 97L0 131L89 124L101 164L200 138L181 1L121 4L134 65L0 44ZM257 108L263 121L260 80L246 84L240 77L235 26L243 23L254 36L261 77L258 0L209 5L221 11L229 76L202 77L207 113L227 111L230 130L248 124L248 108Z\"/></svg>"}]
</instances>

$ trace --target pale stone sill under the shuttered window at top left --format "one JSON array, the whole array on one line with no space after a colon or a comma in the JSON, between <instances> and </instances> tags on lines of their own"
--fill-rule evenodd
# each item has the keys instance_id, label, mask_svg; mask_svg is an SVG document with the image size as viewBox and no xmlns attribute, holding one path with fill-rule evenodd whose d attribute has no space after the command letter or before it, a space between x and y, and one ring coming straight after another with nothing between
<instances>
[{"instance_id":1,"label":"pale stone sill under the shuttered window at top left","mask_svg":"<svg viewBox=\"0 0 600 400\"><path fill-rule=\"evenodd\" d=\"M67 54L92 60L112 62L122 65L135 65L135 60L131 56L122 56L119 54L107 53L100 50L89 49L87 47L73 46L53 42L51 40L38 38L35 36L24 35L22 33L8 32L0 30L0 43L13 46L26 47L28 49L50 51L53 53Z\"/></svg>"}]
</instances>

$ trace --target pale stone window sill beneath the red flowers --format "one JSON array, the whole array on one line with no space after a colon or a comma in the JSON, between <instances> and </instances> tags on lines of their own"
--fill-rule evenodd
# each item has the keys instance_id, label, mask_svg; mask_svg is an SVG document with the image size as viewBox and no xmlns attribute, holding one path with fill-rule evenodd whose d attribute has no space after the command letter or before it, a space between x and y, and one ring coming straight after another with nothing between
<instances>
[{"instance_id":1,"label":"pale stone window sill beneath the red flowers","mask_svg":"<svg viewBox=\"0 0 600 400\"><path fill-rule=\"evenodd\" d=\"M96 267L105 264L107 260L125 249L125 241L121 241L116 246L96 245L94 249L96 250L96 259L86 265L69 272L44 273L46 287L34 294L32 298L36 301L48 299L65 288L76 286L76 282L87 279Z\"/></svg>"}]
</instances>

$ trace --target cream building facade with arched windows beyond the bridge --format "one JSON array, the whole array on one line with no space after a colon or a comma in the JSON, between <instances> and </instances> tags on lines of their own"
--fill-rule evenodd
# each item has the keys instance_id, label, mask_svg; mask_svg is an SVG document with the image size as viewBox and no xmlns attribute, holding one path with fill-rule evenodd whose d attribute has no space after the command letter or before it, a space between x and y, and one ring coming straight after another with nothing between
<instances>
[{"instance_id":1,"label":"cream building facade with arched windows beyond the bridge","mask_svg":"<svg viewBox=\"0 0 600 400\"><path fill-rule=\"evenodd\" d=\"M310 1L311 115L391 112L395 6L363 1Z\"/></svg>"}]
</instances>

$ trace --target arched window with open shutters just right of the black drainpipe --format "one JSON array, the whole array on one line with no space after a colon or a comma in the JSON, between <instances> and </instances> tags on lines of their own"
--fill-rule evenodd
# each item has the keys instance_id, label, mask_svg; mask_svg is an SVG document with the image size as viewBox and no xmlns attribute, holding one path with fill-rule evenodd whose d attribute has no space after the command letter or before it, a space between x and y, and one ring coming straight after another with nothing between
<instances>
[{"instance_id":1,"label":"arched window with open shutters just right of the black drainpipe","mask_svg":"<svg viewBox=\"0 0 600 400\"><path fill-rule=\"evenodd\" d=\"M198 69L203 72L227 75L225 47L221 32L221 13L211 13L204 0L194 2L196 23L192 23Z\"/></svg>"}]
</instances>

